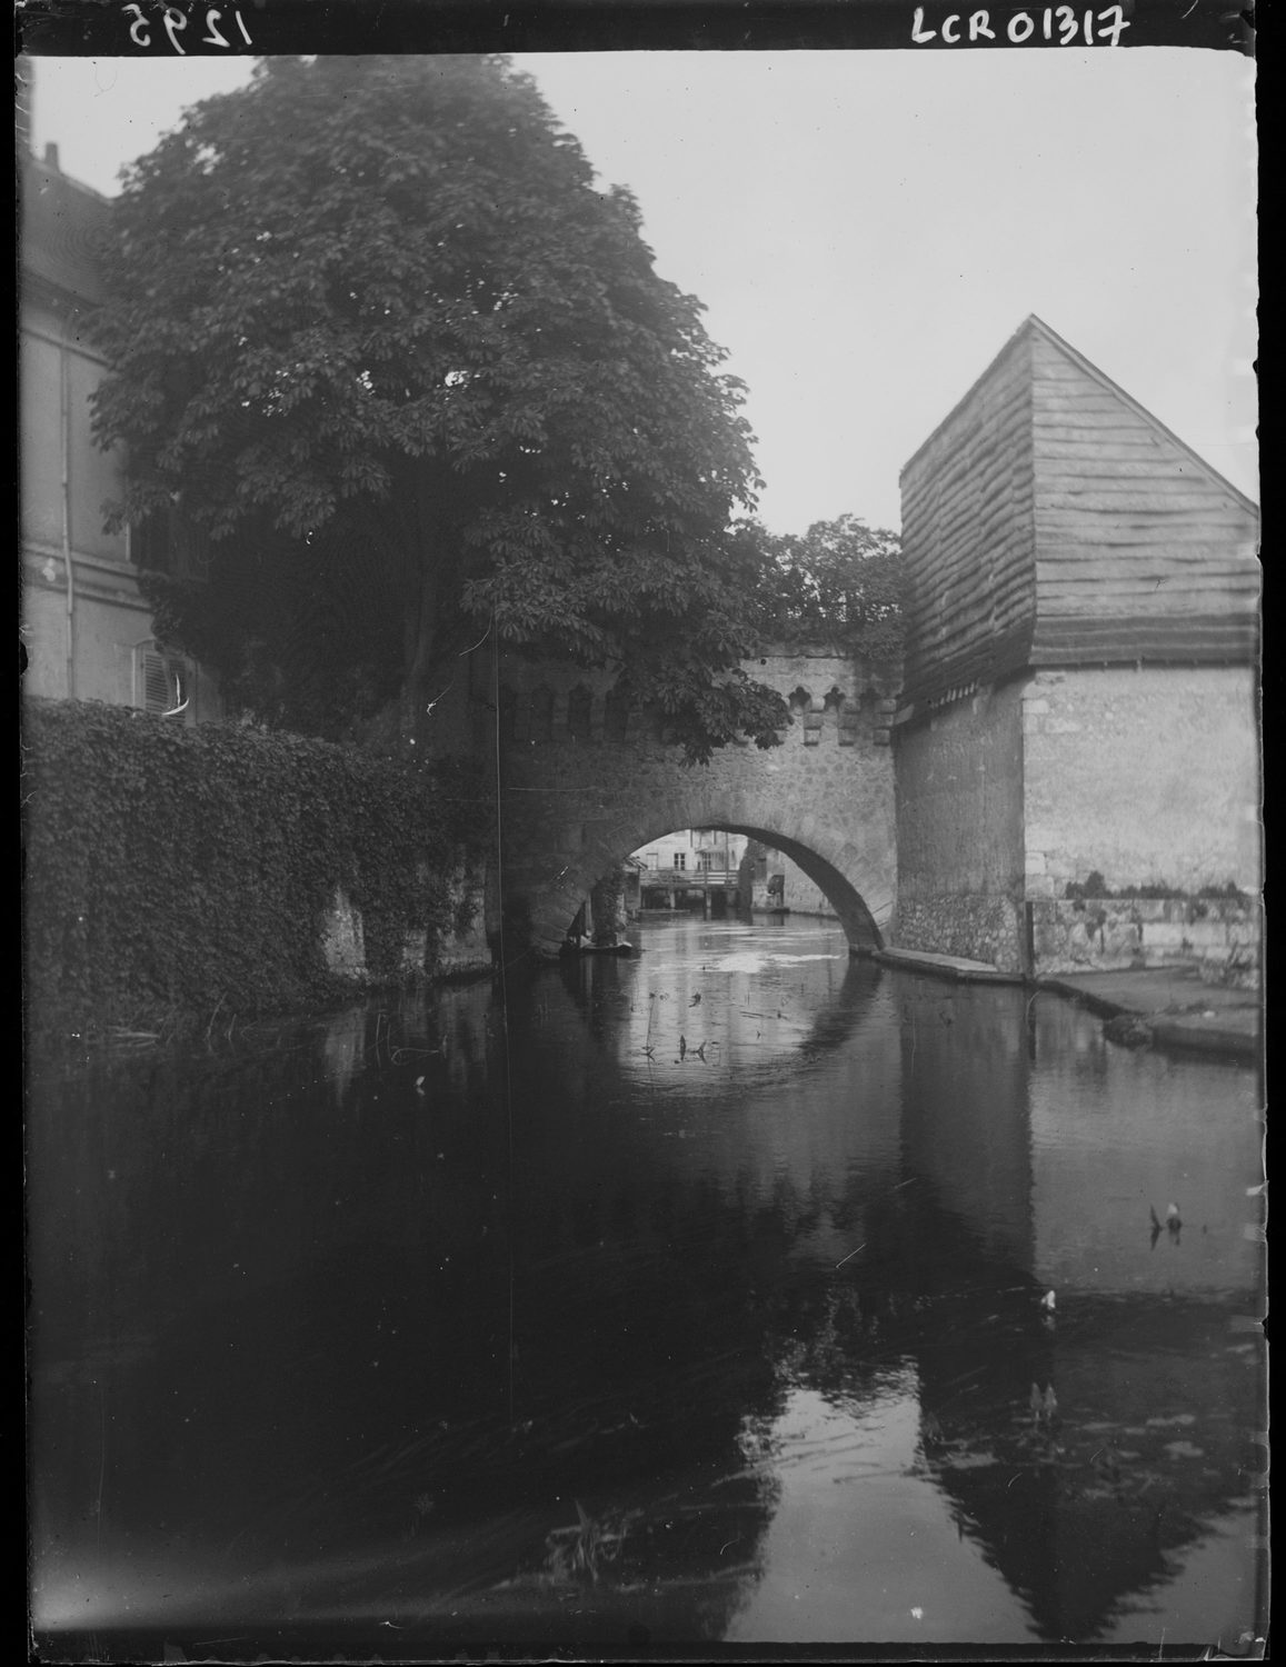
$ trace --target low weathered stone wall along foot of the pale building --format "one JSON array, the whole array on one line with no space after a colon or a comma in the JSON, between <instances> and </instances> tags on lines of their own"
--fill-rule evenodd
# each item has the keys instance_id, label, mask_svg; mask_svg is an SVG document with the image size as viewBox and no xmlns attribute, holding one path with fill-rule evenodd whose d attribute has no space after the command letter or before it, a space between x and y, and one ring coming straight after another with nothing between
<instances>
[{"instance_id":1,"label":"low weathered stone wall along foot of the pale building","mask_svg":"<svg viewBox=\"0 0 1286 1667\"><path fill-rule=\"evenodd\" d=\"M1223 897L1037 899L1032 972L1196 965L1211 984L1258 989L1261 910Z\"/></svg>"}]
</instances>

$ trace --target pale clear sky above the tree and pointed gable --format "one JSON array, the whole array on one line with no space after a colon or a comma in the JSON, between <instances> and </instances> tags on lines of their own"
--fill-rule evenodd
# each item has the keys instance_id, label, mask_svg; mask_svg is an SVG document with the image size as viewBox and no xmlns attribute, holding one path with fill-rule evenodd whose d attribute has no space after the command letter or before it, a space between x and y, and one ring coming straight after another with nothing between
<instances>
[{"instance_id":1,"label":"pale clear sky above the tree and pointed gable","mask_svg":"<svg viewBox=\"0 0 1286 1667\"><path fill-rule=\"evenodd\" d=\"M897 528L899 472L1037 313L1258 498L1254 67L1231 52L519 57L747 385L757 513ZM245 58L37 58L112 195Z\"/></svg>"}]
</instances>

